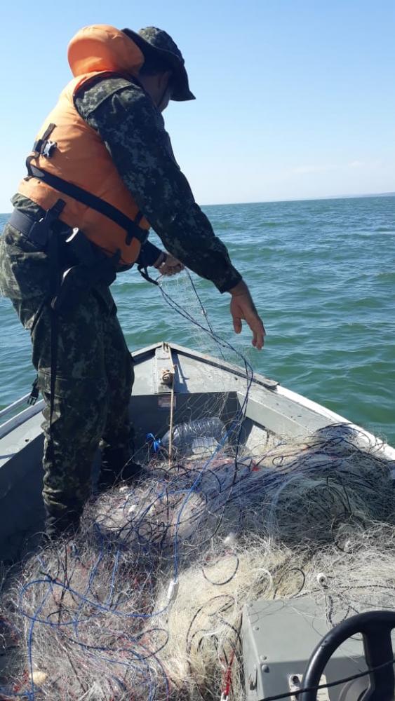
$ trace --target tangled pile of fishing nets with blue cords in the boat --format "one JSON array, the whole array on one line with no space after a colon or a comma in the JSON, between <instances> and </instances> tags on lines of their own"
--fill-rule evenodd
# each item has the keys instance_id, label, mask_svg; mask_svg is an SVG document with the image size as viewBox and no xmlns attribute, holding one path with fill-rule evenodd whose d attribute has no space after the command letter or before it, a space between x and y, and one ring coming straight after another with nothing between
<instances>
[{"instance_id":1,"label":"tangled pile of fishing nets with blue cords in the boat","mask_svg":"<svg viewBox=\"0 0 395 701\"><path fill-rule=\"evenodd\" d=\"M8 578L2 701L241 700L248 601L311 595L330 626L395 608L382 444L345 424L241 444L242 420L170 465L152 455L86 506L79 536Z\"/></svg>"}]
</instances>

